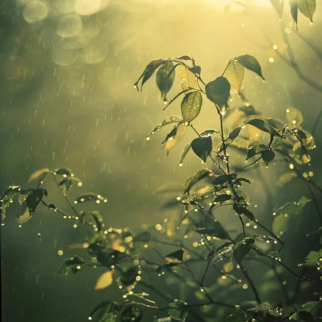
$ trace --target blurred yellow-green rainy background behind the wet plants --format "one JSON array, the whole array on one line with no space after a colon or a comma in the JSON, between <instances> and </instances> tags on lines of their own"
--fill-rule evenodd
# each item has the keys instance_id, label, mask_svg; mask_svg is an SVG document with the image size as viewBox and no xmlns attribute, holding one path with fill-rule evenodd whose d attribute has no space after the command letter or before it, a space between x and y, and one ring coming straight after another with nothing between
<instances>
[{"instance_id":1,"label":"blurred yellow-green rainy background behind the wet plants","mask_svg":"<svg viewBox=\"0 0 322 322\"><path fill-rule=\"evenodd\" d=\"M177 103L162 112L164 105L152 82L143 93L133 89L144 67L156 58L192 54L208 82L221 75L231 57L252 54L261 63L266 82L247 73L247 99L264 115L281 119L293 106L304 115L303 127L311 130L322 108L322 94L304 84L263 36L261 29L287 54L270 1L248 3L255 19L245 15L243 6L227 7L229 1L223 0L2 0L1 190L13 184L26 186L37 169L68 167L83 180L81 188L72 189L72 196L94 191L108 197L107 205L98 206L108 226L137 229L171 216L171 210L160 209L168 196L155 189L167 181L184 181L201 164L191 153L178 167L181 148L194 136L192 132L169 156L161 150L167 130L145 140L164 117L180 115ZM297 62L321 84L321 60L295 35L288 12L285 16ZM301 34L320 50L321 27L320 4L313 25L299 16ZM170 97L179 89L177 81ZM234 95L231 105L243 102ZM226 130L230 125L226 122ZM217 128L211 104L205 104L195 126ZM317 147L320 137L318 127ZM311 156L315 181L320 182L321 151L315 149ZM263 169L273 207L307 195L300 181L282 189L274 185L286 170L287 165ZM45 186L48 200L68 209L54 185ZM255 182L249 191L252 204L259 205L257 216L270 222L263 187ZM113 299L113 288L94 291L101 272L86 268L66 278L54 276L62 260L57 251L72 256L74 251L66 245L84 241L81 229L41 207L19 228L14 211L9 209L1 227L3 321L83 321L102 298ZM296 243L317 224L314 218L286 238ZM229 228L228 216L221 222ZM306 249L298 244L301 258ZM298 263L297 255L290 256L291 263Z\"/></svg>"}]
</instances>

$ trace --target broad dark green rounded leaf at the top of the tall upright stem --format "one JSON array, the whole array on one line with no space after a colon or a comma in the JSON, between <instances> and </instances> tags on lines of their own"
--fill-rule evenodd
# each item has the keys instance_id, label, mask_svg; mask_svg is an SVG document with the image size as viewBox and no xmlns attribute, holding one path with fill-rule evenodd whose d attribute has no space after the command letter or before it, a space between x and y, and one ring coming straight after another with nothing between
<instances>
[{"instance_id":1,"label":"broad dark green rounded leaf at the top of the tall upright stem","mask_svg":"<svg viewBox=\"0 0 322 322\"><path fill-rule=\"evenodd\" d=\"M219 107L228 107L228 98L230 95L230 84L227 78L220 76L206 85L206 96Z\"/></svg>"}]
</instances>

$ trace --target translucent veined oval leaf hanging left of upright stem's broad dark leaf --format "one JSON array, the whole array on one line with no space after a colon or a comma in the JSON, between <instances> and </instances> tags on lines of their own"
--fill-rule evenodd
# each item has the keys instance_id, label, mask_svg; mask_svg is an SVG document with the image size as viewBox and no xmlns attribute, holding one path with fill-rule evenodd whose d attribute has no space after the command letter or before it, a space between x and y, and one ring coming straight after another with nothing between
<instances>
[{"instance_id":1,"label":"translucent veined oval leaf hanging left of upright stem's broad dark leaf","mask_svg":"<svg viewBox=\"0 0 322 322\"><path fill-rule=\"evenodd\" d=\"M202 95L199 91L188 93L181 102L181 113L187 126L199 114L202 105Z\"/></svg>"}]
</instances>

